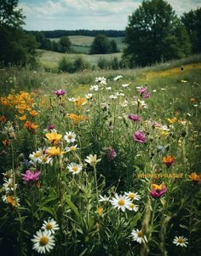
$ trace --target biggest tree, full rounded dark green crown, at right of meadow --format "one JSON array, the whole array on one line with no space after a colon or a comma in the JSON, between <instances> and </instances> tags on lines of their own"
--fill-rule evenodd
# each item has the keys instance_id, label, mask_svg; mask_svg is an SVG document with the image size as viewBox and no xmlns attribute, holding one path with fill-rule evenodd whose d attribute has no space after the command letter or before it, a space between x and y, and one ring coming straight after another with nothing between
<instances>
[{"instance_id":1,"label":"biggest tree, full rounded dark green crown, at right of meadow","mask_svg":"<svg viewBox=\"0 0 201 256\"><path fill-rule=\"evenodd\" d=\"M191 49L185 26L164 0L143 1L129 16L125 42L123 58L129 67L181 58Z\"/></svg>"}]
</instances>

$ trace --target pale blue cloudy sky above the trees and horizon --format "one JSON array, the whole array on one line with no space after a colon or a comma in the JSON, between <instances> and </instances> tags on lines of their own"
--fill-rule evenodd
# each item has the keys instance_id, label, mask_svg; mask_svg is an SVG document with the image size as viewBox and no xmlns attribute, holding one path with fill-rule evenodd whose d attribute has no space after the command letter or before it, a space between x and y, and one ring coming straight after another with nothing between
<instances>
[{"instance_id":1,"label":"pale blue cloudy sky above the trees and horizon","mask_svg":"<svg viewBox=\"0 0 201 256\"><path fill-rule=\"evenodd\" d=\"M20 0L26 30L124 30L142 0ZM177 15L201 7L201 0L168 0Z\"/></svg>"}]
</instances>

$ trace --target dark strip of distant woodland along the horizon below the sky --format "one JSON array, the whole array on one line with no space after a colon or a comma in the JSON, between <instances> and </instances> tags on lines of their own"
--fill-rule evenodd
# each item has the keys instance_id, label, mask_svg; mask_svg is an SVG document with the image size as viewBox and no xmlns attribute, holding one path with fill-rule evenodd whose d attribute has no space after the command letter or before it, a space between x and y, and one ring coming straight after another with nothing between
<instances>
[{"instance_id":1,"label":"dark strip of distant woodland along the horizon below the sky","mask_svg":"<svg viewBox=\"0 0 201 256\"><path fill-rule=\"evenodd\" d=\"M61 38L68 36L89 36L95 37L97 34L104 34L106 37L119 38L125 36L123 30L53 30L53 31L41 31L46 38Z\"/></svg>"}]
</instances>

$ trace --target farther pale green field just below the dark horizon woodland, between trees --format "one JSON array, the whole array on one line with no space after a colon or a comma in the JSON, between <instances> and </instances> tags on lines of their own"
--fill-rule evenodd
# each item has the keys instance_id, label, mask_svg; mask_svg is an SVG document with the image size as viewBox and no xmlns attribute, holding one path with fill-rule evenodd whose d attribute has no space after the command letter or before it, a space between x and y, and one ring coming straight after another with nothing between
<instances>
[{"instance_id":1,"label":"farther pale green field just below the dark horizon woodland, between trees","mask_svg":"<svg viewBox=\"0 0 201 256\"><path fill-rule=\"evenodd\" d=\"M75 52L89 54L90 45L93 43L95 37L87 37L87 36L69 36L68 37L72 42L72 49ZM59 41L60 38L50 38L51 41ZM115 40L118 49L123 51L125 44L123 43L123 39L121 37L118 38L108 38L109 40Z\"/></svg>"}]
</instances>

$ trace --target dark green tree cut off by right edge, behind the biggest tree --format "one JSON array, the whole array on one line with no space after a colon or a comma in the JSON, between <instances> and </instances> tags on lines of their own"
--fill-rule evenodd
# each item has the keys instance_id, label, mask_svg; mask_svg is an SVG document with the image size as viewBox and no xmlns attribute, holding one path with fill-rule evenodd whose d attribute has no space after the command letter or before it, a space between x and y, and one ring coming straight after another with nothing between
<instances>
[{"instance_id":1,"label":"dark green tree cut off by right edge, behind the biggest tree","mask_svg":"<svg viewBox=\"0 0 201 256\"><path fill-rule=\"evenodd\" d=\"M191 10L181 16L192 43L192 53L201 52L201 8Z\"/></svg>"}]
</instances>

